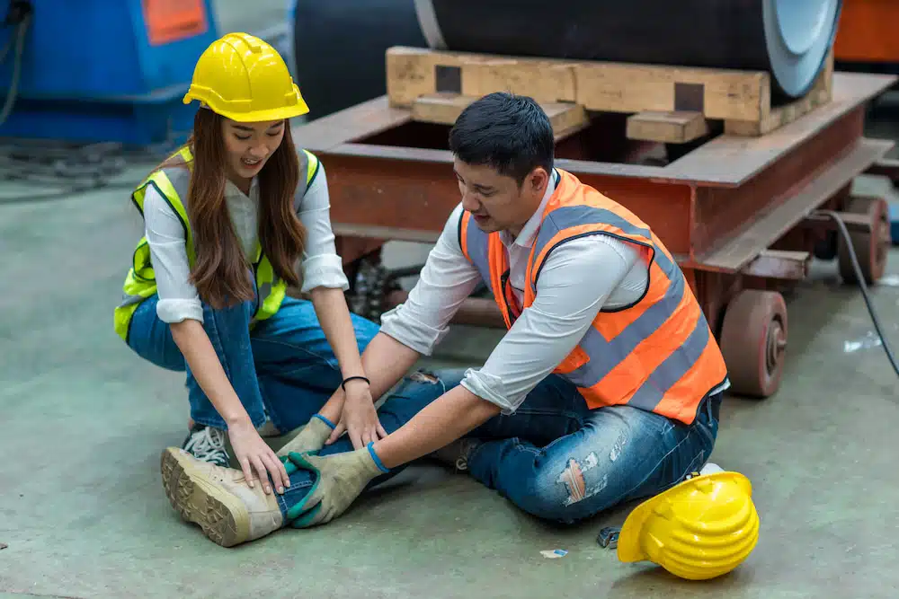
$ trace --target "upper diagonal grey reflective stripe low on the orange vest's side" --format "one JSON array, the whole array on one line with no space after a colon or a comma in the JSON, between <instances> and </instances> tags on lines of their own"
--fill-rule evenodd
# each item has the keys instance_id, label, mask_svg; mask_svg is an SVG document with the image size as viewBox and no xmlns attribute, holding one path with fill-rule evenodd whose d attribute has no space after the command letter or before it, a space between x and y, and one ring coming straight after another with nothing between
<instances>
[{"instance_id":1,"label":"upper diagonal grey reflective stripe low on the orange vest's side","mask_svg":"<svg viewBox=\"0 0 899 599\"><path fill-rule=\"evenodd\" d=\"M599 383L615 366L633 353L641 341L652 335L668 320L681 303L684 283L683 277L673 277L662 300L649 306L613 339L606 340L594 327L587 329L579 345L590 356L590 361L576 368L574 372L566 374L566 378L579 387L592 387ZM701 315L699 320L705 322L705 318Z\"/></svg>"}]
</instances>

